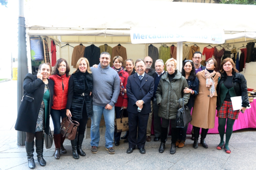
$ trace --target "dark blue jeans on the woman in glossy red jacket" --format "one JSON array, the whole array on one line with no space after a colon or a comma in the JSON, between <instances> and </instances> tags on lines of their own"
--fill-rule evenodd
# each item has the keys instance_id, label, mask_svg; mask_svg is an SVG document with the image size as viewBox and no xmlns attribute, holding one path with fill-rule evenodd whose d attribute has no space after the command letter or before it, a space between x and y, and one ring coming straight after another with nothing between
<instances>
[{"instance_id":1,"label":"dark blue jeans on the woman in glossy red jacket","mask_svg":"<svg viewBox=\"0 0 256 170\"><path fill-rule=\"evenodd\" d=\"M60 123L61 120L66 117L66 109L62 110L51 110L52 122L54 126L54 133L53 134L60 134ZM60 119L61 117L61 119Z\"/></svg>"}]
</instances>

